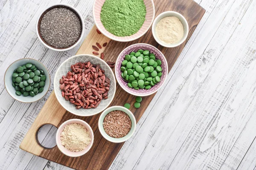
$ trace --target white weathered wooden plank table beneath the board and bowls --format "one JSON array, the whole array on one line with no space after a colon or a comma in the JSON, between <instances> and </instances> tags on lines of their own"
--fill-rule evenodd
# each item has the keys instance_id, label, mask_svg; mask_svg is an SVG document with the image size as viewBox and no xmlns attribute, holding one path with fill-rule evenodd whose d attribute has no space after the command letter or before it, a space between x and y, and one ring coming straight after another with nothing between
<instances>
[{"instance_id":1,"label":"white weathered wooden plank table beneath the board and bowls","mask_svg":"<svg viewBox=\"0 0 256 170\"><path fill-rule=\"evenodd\" d=\"M256 0L196 2L206 9L201 23L111 170L256 169ZM12 99L3 84L6 68L17 59L40 60L53 78L78 50L55 52L38 40L38 14L54 3L81 12L86 37L93 0L0 0L0 170L69 169L19 149L53 82L31 104ZM39 139L54 145L54 132L44 126Z\"/></svg>"}]
</instances>

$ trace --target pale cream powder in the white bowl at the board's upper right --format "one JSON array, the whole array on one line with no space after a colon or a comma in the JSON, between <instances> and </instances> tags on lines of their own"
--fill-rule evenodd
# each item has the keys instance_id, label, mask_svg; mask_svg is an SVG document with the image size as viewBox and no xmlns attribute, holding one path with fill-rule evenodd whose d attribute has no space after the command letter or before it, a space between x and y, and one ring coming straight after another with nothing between
<instances>
[{"instance_id":1,"label":"pale cream powder in the white bowl at the board's upper right","mask_svg":"<svg viewBox=\"0 0 256 170\"><path fill-rule=\"evenodd\" d=\"M166 44L175 44L184 36L184 28L177 17L165 17L157 23L156 33Z\"/></svg>"}]
</instances>

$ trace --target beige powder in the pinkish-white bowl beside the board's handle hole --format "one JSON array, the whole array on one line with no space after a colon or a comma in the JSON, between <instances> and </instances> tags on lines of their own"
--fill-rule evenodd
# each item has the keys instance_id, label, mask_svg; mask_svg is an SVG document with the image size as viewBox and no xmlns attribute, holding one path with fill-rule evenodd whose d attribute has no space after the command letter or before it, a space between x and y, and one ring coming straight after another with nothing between
<instances>
[{"instance_id":1,"label":"beige powder in the pinkish-white bowl beside the board's handle hole","mask_svg":"<svg viewBox=\"0 0 256 170\"><path fill-rule=\"evenodd\" d=\"M61 144L72 152L84 150L90 144L90 132L81 124L71 123L61 132Z\"/></svg>"}]
</instances>

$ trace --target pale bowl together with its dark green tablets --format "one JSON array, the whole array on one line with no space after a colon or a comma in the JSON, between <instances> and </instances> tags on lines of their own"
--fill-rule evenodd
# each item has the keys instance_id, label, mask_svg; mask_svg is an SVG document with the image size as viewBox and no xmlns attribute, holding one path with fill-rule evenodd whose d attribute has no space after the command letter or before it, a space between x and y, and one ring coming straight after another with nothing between
<instances>
[{"instance_id":1,"label":"pale bowl together with its dark green tablets","mask_svg":"<svg viewBox=\"0 0 256 170\"><path fill-rule=\"evenodd\" d=\"M36 102L49 90L49 71L38 60L19 59L7 68L4 85L15 100L25 103Z\"/></svg>"}]
</instances>

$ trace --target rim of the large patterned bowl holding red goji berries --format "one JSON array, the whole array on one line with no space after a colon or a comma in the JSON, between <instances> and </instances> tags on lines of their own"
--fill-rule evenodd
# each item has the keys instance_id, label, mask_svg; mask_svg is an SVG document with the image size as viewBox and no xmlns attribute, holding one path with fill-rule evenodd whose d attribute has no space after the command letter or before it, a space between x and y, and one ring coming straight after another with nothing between
<instances>
[{"instance_id":1,"label":"rim of the large patterned bowl holding red goji berries","mask_svg":"<svg viewBox=\"0 0 256 170\"><path fill-rule=\"evenodd\" d=\"M96 56L93 56L93 55L91 55L91 54L78 54L78 55L74 55L74 56L72 56L72 57L66 59L64 62L61 63L61 65L58 67L57 71L55 72L55 76L54 76L54 79L53 79L53 89L54 89L55 96L56 96L56 98L57 98L59 104L60 104L66 111L68 111L68 112L70 112L70 113L72 113L72 114L74 114L74 115L76 115L76 116L87 117L87 116L93 116L93 115L99 114L99 113L101 113L102 111L104 111L106 108L108 108L108 106L111 104L111 102L113 101L113 99L114 99L114 97L115 97L115 94L116 94L116 81L112 82L112 83L114 83L114 94L113 94L113 97L112 97L112 99L110 100L109 104L108 104L107 106L105 106L101 111L98 111L97 113L89 114L89 115L86 115L86 116L81 115L81 114L77 114L77 113L73 113L73 112L69 111L69 109L67 109L65 105L61 104L61 102L60 102L59 99L58 99L58 96L57 96L57 94L56 94L57 91L55 91L55 88L57 88L57 87L55 87L55 78L56 78L56 75L57 75L56 73L58 73L58 71L61 69L61 67L64 65L64 63L67 62L67 60L73 59L73 58L76 58L76 57L80 57L80 56L90 56L90 57L93 57L93 58L97 58L97 59L101 60L102 62L105 62L103 59L101 59L101 58L99 58L99 57L96 57ZM113 73L113 70L110 68L110 66L107 64L107 62L105 62L105 64L107 65L108 69L111 70L111 75L112 75L113 78L115 79L115 75L114 75L114 73ZM57 79L56 79L56 81L57 81Z\"/></svg>"}]
</instances>

